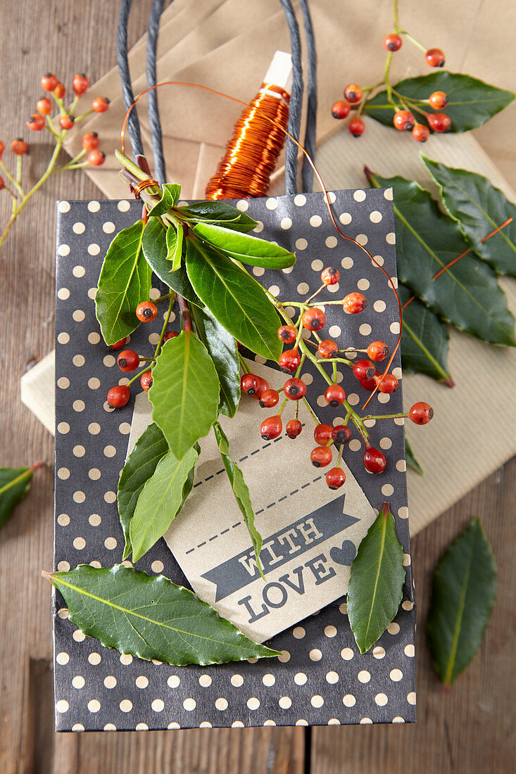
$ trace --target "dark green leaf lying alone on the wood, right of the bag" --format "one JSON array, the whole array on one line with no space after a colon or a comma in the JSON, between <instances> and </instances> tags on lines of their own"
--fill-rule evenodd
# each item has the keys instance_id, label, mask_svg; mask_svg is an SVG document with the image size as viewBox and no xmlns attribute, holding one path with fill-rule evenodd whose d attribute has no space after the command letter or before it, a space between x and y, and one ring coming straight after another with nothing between
<instances>
[{"instance_id":1,"label":"dark green leaf lying alone on the wood, right of the bag","mask_svg":"<svg viewBox=\"0 0 516 774\"><path fill-rule=\"evenodd\" d=\"M435 671L450 686L476 656L497 593L497 567L480 524L470 526L435 568L426 622Z\"/></svg>"}]
</instances>

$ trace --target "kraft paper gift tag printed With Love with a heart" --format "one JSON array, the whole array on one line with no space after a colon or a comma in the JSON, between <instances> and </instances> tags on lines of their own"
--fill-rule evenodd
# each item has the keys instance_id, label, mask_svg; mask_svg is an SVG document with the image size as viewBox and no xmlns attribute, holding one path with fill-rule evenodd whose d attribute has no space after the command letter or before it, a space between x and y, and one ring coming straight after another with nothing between
<instances>
[{"instance_id":1,"label":"kraft paper gift tag printed With Love with a heart","mask_svg":"<svg viewBox=\"0 0 516 774\"><path fill-rule=\"evenodd\" d=\"M264 365L249 362L249 368L273 389L287 378ZM213 435L202 440L191 495L165 535L194 591L257 642L346 593L349 566L376 518L346 463L346 482L336 491L326 487L325 469L311 464L315 425L304 404L304 430L295 441L284 434L262 440L256 431L264 410L243 396L236 416L221 417L221 424L249 487L266 580ZM152 421L151 411L146 393L137 396L128 453Z\"/></svg>"}]
</instances>

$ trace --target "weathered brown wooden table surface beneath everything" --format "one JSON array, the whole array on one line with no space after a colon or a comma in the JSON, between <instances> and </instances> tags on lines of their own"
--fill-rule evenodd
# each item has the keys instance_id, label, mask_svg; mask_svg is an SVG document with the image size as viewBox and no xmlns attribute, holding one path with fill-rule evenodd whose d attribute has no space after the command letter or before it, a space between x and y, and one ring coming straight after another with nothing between
<instances>
[{"instance_id":1,"label":"weathered brown wooden table surface beneath everything","mask_svg":"<svg viewBox=\"0 0 516 774\"><path fill-rule=\"evenodd\" d=\"M15 136L29 134L25 120L40 96L40 74L53 70L69 84L75 72L84 71L93 81L112 66L118 5L118 0L0 3L0 139L6 146ZM134 5L132 42L146 27L150 2L140 0ZM509 118L502 116L496 122L498 132L509 131ZM42 135L34 140L29 174L36 180L49 149ZM9 156L6 152L5 158ZM55 176L28 205L0 253L0 464L19 466L39 460L47 464L36 474L29 497L0 535L0 772L513 771L516 604L511 539L516 460L470 492L412 543L419 624L418 724L53 733L50 587L40 578L42 567L52 567L53 439L20 403L19 377L53 347L54 202L63 196L63 187L67 198L98 195L81 173L67 173L66 180ZM8 197L0 197L4 222ZM443 454L463 451L449 448ZM473 453L481 454L481 450ZM480 655L445 695L425 648L429 588L442 550L473 515L480 515L493 545L499 592Z\"/></svg>"}]
</instances>

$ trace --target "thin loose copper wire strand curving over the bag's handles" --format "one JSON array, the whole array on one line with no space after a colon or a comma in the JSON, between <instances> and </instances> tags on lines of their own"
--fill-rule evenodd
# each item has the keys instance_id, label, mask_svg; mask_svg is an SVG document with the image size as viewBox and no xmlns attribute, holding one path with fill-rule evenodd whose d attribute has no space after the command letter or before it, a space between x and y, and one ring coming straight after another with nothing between
<instances>
[{"instance_id":1,"label":"thin loose copper wire strand curving over the bag's handles","mask_svg":"<svg viewBox=\"0 0 516 774\"><path fill-rule=\"evenodd\" d=\"M207 91L208 94L215 94L215 96L218 96L218 97L224 97L225 99L229 99L232 102L236 102L236 104L243 105L243 107L245 107L245 108L251 108L252 105L253 105L252 102L251 103L244 102L243 100L241 100L241 99L239 99L237 97L232 97L231 94L224 94L223 91L216 91L216 89L211 89L210 87L202 86L201 84L187 84L187 83L184 83L181 80L162 80L159 84L154 84L154 86L150 86L149 88L146 88L143 91L140 91L140 93L136 96L136 98L134 99L132 104L129 105L129 108L127 108L126 115L125 115L124 120L122 122L122 128L120 130L120 142L121 142L121 146L122 146L122 153L125 153L126 128L127 128L127 122L129 120L129 115L130 115L130 113L132 111L132 108L134 108L136 103L145 94L147 94L147 92L153 91L153 89L157 89L160 86L187 86L187 87L191 87L191 88L201 89L202 91ZM398 309L398 317L399 317L399 323L400 323L400 330L399 330L399 333L397 335L396 346L394 347L394 350L392 351L392 354L390 355L390 358L387 361L387 366L385 368L384 373L381 375L382 378L384 378L384 376L387 375L387 373L389 372L390 365L392 364L392 361L394 360L394 357L395 357L395 355L397 353L397 350L400 348L401 330L403 329L403 321L401 319L402 318L402 314L401 314L401 301L400 301L400 297L397 294L397 290L394 287L394 283L392 282L391 277L389 276L388 272L386 272L384 267L382 265L380 265L380 263L377 262L376 259L373 258L373 255L371 255L370 252L368 250L366 250L366 248L363 245L360 245L360 243L358 241L356 241L356 239L353 239L353 237L347 237L345 234L342 234L342 231L339 228L339 224L337 223L337 220L335 218L335 214L333 213L332 204L330 203L330 200L329 200L328 190L326 190L325 183L322 180L322 176L319 173L317 167L315 166L315 163L312 161L311 156L308 154L308 151L306 151L304 149L304 147L301 145L301 142L298 142L298 140L295 139L290 134L290 132L288 132L287 129L284 128L282 125L280 125L280 123L278 123L274 118L270 118L270 116L264 114L257 105L255 105L254 110L256 111L256 113L260 113L260 115L263 115L263 118L265 118L268 122L270 122L270 124L272 124L272 125L276 126L277 128L279 128L281 132L284 132L284 135L286 137L289 137L292 140L292 142L294 142L294 145L297 146L298 149L301 150L301 152L303 153L304 157L307 159L308 163L310 164L312 170L314 170L315 177L317 178L318 183L319 183L319 185L321 186L321 188L323 190L326 208L327 208L327 210L329 212L329 216L332 219L332 223L335 226L335 229L336 229L337 233L342 237L342 239L346 239L346 241L351 241L355 245L358 245L358 247L361 250L363 250L363 252L365 252L366 255L371 259L373 264L376 265L378 267L378 269L380 269L382 272L384 272L384 275L387 277L388 285L392 289L392 292L394 293L394 296L396 297L396 301L397 301L397 309ZM381 379L379 381L381 382ZM375 392L377 392L377 389L378 389L378 385L376 385L376 387L373 389L373 392L371 392L369 398L363 404L363 406L362 406L363 409L366 408L367 404L373 398L373 395L375 394Z\"/></svg>"}]
</instances>

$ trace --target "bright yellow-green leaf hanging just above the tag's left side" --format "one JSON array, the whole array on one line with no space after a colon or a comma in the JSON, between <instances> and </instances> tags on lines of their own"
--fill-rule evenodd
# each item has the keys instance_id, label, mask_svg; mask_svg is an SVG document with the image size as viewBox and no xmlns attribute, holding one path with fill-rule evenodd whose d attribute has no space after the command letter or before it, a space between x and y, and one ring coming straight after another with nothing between
<instances>
[{"instance_id":1,"label":"bright yellow-green leaf hanging just above the tag's left side","mask_svg":"<svg viewBox=\"0 0 516 774\"><path fill-rule=\"evenodd\" d=\"M163 344L153 368L153 421L181 460L217 419L220 385L212 358L191 331Z\"/></svg>"}]
</instances>

